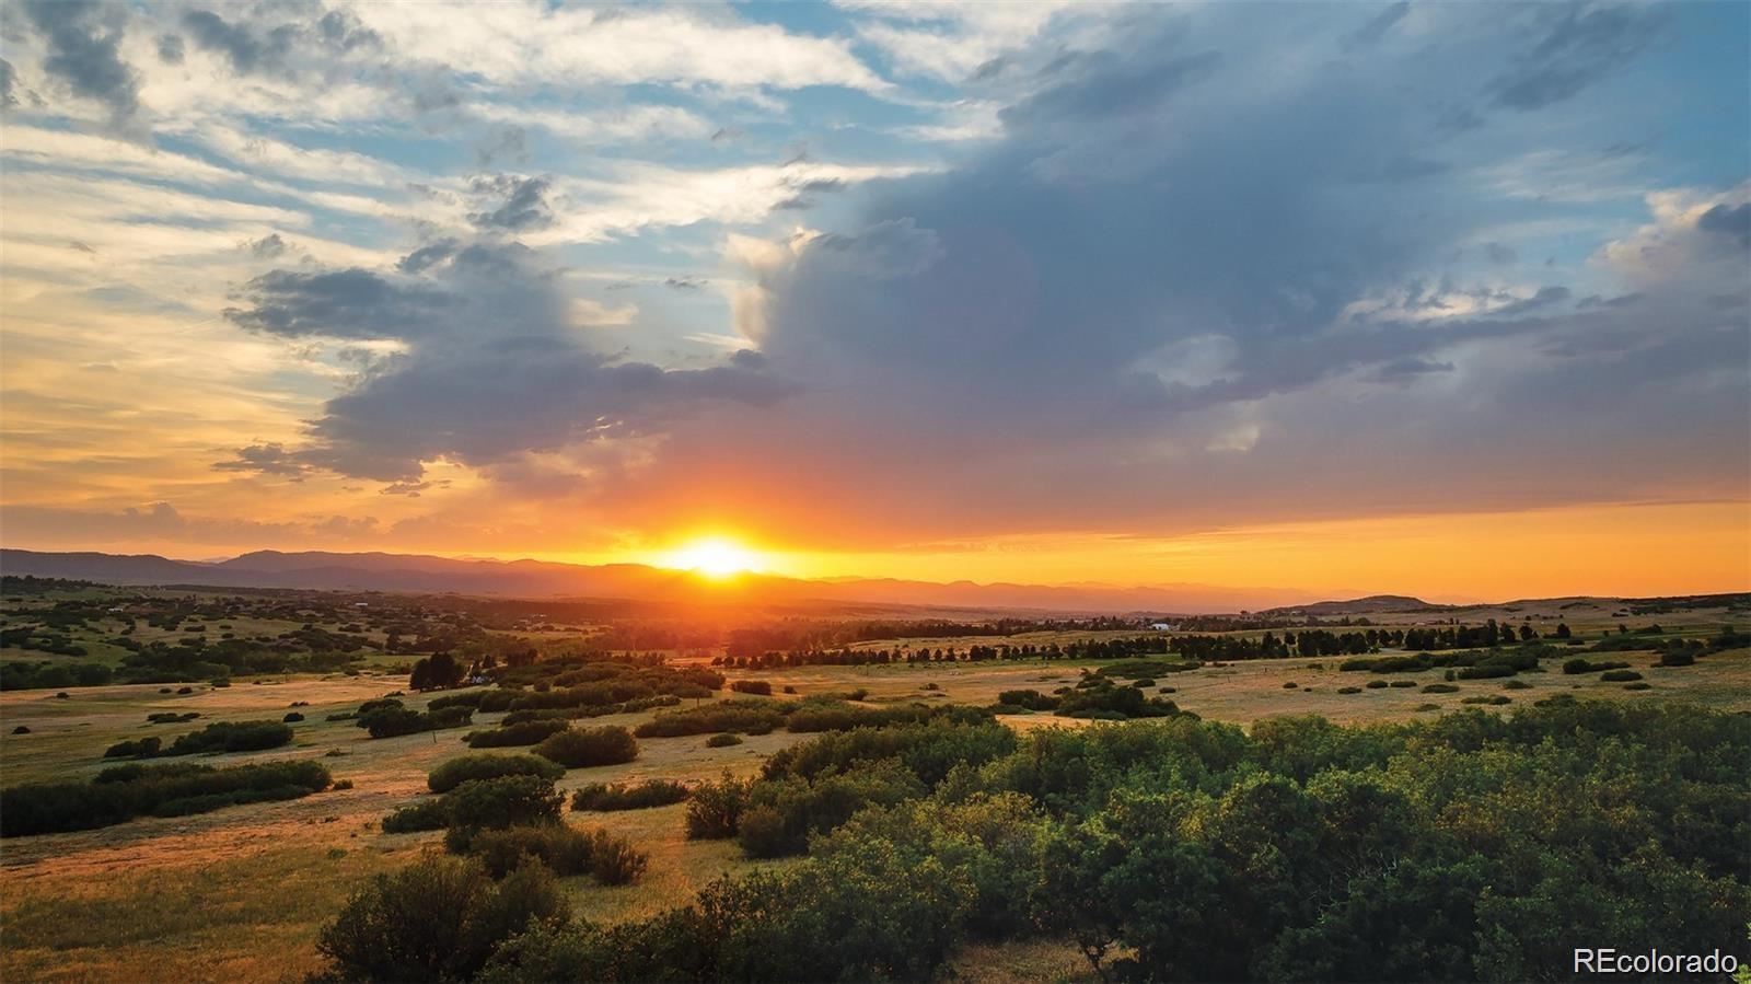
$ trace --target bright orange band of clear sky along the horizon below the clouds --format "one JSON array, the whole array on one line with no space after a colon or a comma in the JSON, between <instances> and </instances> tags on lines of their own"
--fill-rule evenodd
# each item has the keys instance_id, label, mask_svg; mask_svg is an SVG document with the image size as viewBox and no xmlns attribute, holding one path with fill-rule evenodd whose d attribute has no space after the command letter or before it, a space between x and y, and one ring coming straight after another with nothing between
<instances>
[{"instance_id":1,"label":"bright orange band of clear sky along the horizon below the clouds","mask_svg":"<svg viewBox=\"0 0 1751 984\"><path fill-rule=\"evenodd\" d=\"M1184 536L1065 532L912 545L895 550L811 550L755 531L686 527L672 538L622 546L496 550L468 543L352 543L298 539L193 543L145 536L124 543L42 543L5 536L7 546L103 550L217 559L254 548L389 550L501 560L688 566L704 541L748 552L746 566L798 578L904 578L1063 585L1198 583L1282 588L1310 595L1411 594L1427 601L1511 601L1557 595L1676 595L1751 590L1751 503L1600 504L1236 527Z\"/></svg>"}]
</instances>

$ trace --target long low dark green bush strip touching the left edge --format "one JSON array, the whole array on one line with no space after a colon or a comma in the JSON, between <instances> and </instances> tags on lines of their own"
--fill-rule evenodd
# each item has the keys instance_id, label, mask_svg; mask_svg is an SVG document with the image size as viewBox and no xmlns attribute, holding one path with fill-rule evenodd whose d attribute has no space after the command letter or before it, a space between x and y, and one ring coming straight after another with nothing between
<instances>
[{"instance_id":1,"label":"long low dark green bush strip touching the left edge","mask_svg":"<svg viewBox=\"0 0 1751 984\"><path fill-rule=\"evenodd\" d=\"M91 830L137 816L187 816L236 804L292 800L329 786L315 762L116 765L89 783L32 783L0 793L0 837Z\"/></svg>"}]
</instances>

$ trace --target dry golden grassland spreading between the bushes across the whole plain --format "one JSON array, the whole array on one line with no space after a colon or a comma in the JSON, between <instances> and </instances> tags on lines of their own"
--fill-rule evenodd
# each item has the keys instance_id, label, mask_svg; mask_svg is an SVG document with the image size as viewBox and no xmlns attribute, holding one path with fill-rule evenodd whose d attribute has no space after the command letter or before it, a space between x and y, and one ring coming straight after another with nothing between
<instances>
[{"instance_id":1,"label":"dry golden grassland spreading between the bushes across the whole plain","mask_svg":"<svg viewBox=\"0 0 1751 984\"><path fill-rule=\"evenodd\" d=\"M89 592L88 592L89 594ZM165 595L170 597L170 595ZM67 599L61 599L67 601ZM98 599L100 602L105 599ZM135 602L151 608L151 602ZM179 602L180 604L180 602ZM105 604L105 608L110 608ZM1583 615L1574 608L1546 606L1537 615L1557 622L1565 615ZM39 601L9 613L9 625L30 623L33 611L51 611ZM345 615L345 613L341 613ZM1513 618L1515 609L1492 616ZM753 781L762 767L786 748L818 737L816 732L788 727L734 727L734 744L714 727L697 734L644 735L641 725L669 720L688 711L711 709L734 699L739 707L840 707L849 714L946 714L961 707L989 714L1012 734L1026 735L1042 728L1115 728L1168 727L1168 721L1196 714L1206 721L1252 728L1261 720L1317 714L1338 725L1380 725L1436 720L1445 714L1480 707L1511 713L1548 699L1606 700L1616 706L1700 706L1714 711L1751 714L1751 650L1742 643L1716 646L1691 662L1662 657L1669 639L1705 639L1718 632L1723 609L1686 609L1660 615L1660 636L1648 636L1637 648L1634 630L1618 629L1623 620L1635 627L1653 623L1651 615L1632 616L1611 604L1586 609L1578 620L1574 646L1541 650L1525 672L1455 679L1453 669L1441 665L1411 667L1397 672L1368 672L1357 665L1343 669L1348 657L1287 657L1173 662L1150 657L1133 671L1112 658L919 658L867 665L800 665L746 669L727 665L735 660L720 651L667 651L639 657L667 665L676 674L716 674L716 690L671 692L686 697L662 697L651 707L604 706L576 727L627 728L637 737L636 756L627 762L573 767L555 781L564 797L590 784L679 783L697 788L721 783L725 776ZM1621 618L1618 618L1621 615ZM1443 616L1446 616L1443 613ZM233 616L228 632L257 639L291 630L331 630L343 625L303 623L296 620ZM422 618L434 618L425 613ZM138 618L144 625L144 618ZM163 618L159 618L163 622ZM214 627L217 620L208 620ZM450 622L455 622L454 618ZM1455 620L1457 622L1457 620ZM1394 625L1394 616L1376 615L1373 623ZM1415 625L1410 616L1399 620ZM1541 622L1543 623L1543 622ZM121 629L107 618L77 625L72 639L96 643ZM362 629L362 627L361 627ZM366 632L382 646L387 632ZM576 660L578 632L485 630L476 637L480 651L520 651L529 644L539 651L532 664L517 671L539 672L548 660ZM1233 630L1220 636L1254 641L1259 632ZM147 646L145 655L168 651L175 634L163 629L142 632L142 639L159 639L165 646ZM1082 644L1124 644L1138 639L1136 630L1052 629L1017 632L1000 641L1016 646L1061 650ZM1616 672L1634 676L1630 683L1607 681L1607 672L1564 672L1565 657L1592 651L1600 641L1616 639L1611 660ZM483 641L483 644L482 644ZM846 651L893 653L970 653L991 644L988 632L974 636L925 636L907 639L860 641ZM1586 644L1581 644L1581 643ZM1728 639L1732 641L1732 639ZM1150 643L1154 644L1154 643ZM1177 650L1180 643L1171 643ZM19 650L12 650L19 651ZM53 653L56 660L105 660L126 672L128 650L121 655L91 648L88 657ZM1079 651L1079 650L1065 650ZM1170 650L1171 651L1171 650ZM21 651L35 658L30 650ZM1390 657L1392 650L1380 655ZM604 653L606 657L606 653ZM68 686L65 690L7 690L0 693L0 772L5 786L42 783L88 783L107 767L128 756L105 758L119 742L147 737L161 741L198 730L214 721L284 721L289 737L264 749L200 753L191 762L208 767L243 763L313 762L327 769L334 786L312 795L275 802L228 805L182 816L137 816L93 830L68 830L7 837L0 842L0 977L7 980L298 980L320 972L326 959L317 952L320 926L334 917L348 896L373 875L406 868L429 851L443 851L441 830L385 833L383 818L410 804L431 802L427 774L440 763L471 751L462 741L476 732L508 732L503 727L513 711L487 709L492 686L440 688L425 693L410 690L406 665L385 665L389 657L368 650L345 665L345 672L271 672L236 674L224 679L172 683L110 683ZM601 658L601 657L590 657ZM1373 657L1371 657L1373 658ZM1663 662L1683 665L1662 665ZM573 664L566 664L573 665ZM588 669L588 658L578 667ZM1163 672L1150 678L1150 665ZM1462 665L1462 664L1460 664ZM1110 667L1114 676L1108 679ZM581 672L581 671L573 671ZM655 671L653 671L655 672ZM511 678L501 683L511 686ZM560 683L569 678L555 678ZM679 679L679 678L676 678ZM695 678L697 679L697 678ZM1150 709L1135 723L1119 725L1101 714L1059 716L1044 704L1054 693L1079 693L1098 683L1091 693L1138 690ZM520 685L518 685L520 686ZM660 688L658 688L660 690ZM532 692L562 693L538 683ZM1005 700L1021 700L1017 692L1035 692L1042 709L1028 711ZM566 692L569 693L569 692ZM473 702L471 721L413 734L373 737L359 720L368 700L390 697L410 713L436 711L447 702ZM508 695L510 697L510 695ZM434 706L434 700L438 702ZM798 704L800 702L800 704ZM1171 704L1170 704L1171 702ZM539 700L536 702L539 706ZM1168 711L1156 711L1171 707ZM149 716L168 718L151 723ZM524 711L522 716L539 716ZM1119 714L1124 716L1124 714ZM1136 714L1133 714L1136 716ZM776 718L774 718L776 720ZM874 718L872 718L874 720ZM795 718L791 718L795 727ZM555 725L564 727L564 723ZM503 748L487 751L529 751ZM172 762L184 762L173 758ZM583 875L562 877L559 886L574 916L597 924L651 919L686 905L720 875L746 877L758 870L786 870L802 860L788 851L751 858L730 839L690 839L685 802L616 812L564 811L560 821L580 830L606 830L646 856L641 875L632 884L601 884ZM1122 949L1122 947L1121 947ZM1119 951L1115 951L1119 952ZM1080 979L1089 975L1084 952L1063 935L1044 938L975 940L960 949L949 966L974 980L1000 979Z\"/></svg>"}]
</instances>

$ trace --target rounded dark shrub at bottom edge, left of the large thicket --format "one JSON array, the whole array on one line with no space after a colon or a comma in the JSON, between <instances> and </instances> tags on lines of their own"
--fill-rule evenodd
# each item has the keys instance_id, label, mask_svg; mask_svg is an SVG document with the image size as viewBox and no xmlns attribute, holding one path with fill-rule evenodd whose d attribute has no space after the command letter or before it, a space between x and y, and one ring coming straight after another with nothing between
<instances>
[{"instance_id":1,"label":"rounded dark shrub at bottom edge, left of the large thicket","mask_svg":"<svg viewBox=\"0 0 1751 984\"><path fill-rule=\"evenodd\" d=\"M317 952L341 979L466 980L504 940L569 916L553 872L539 863L494 884L476 861L425 854L354 893L322 926Z\"/></svg>"}]
</instances>

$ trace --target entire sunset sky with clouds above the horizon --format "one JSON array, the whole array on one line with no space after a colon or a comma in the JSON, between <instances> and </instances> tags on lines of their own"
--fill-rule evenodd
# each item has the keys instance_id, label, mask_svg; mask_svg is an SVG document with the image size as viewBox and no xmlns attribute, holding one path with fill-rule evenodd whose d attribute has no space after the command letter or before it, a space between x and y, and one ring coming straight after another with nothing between
<instances>
[{"instance_id":1,"label":"entire sunset sky with clouds above the horizon","mask_svg":"<svg viewBox=\"0 0 1751 984\"><path fill-rule=\"evenodd\" d=\"M1751 5L0 7L0 541L1751 588Z\"/></svg>"}]
</instances>

